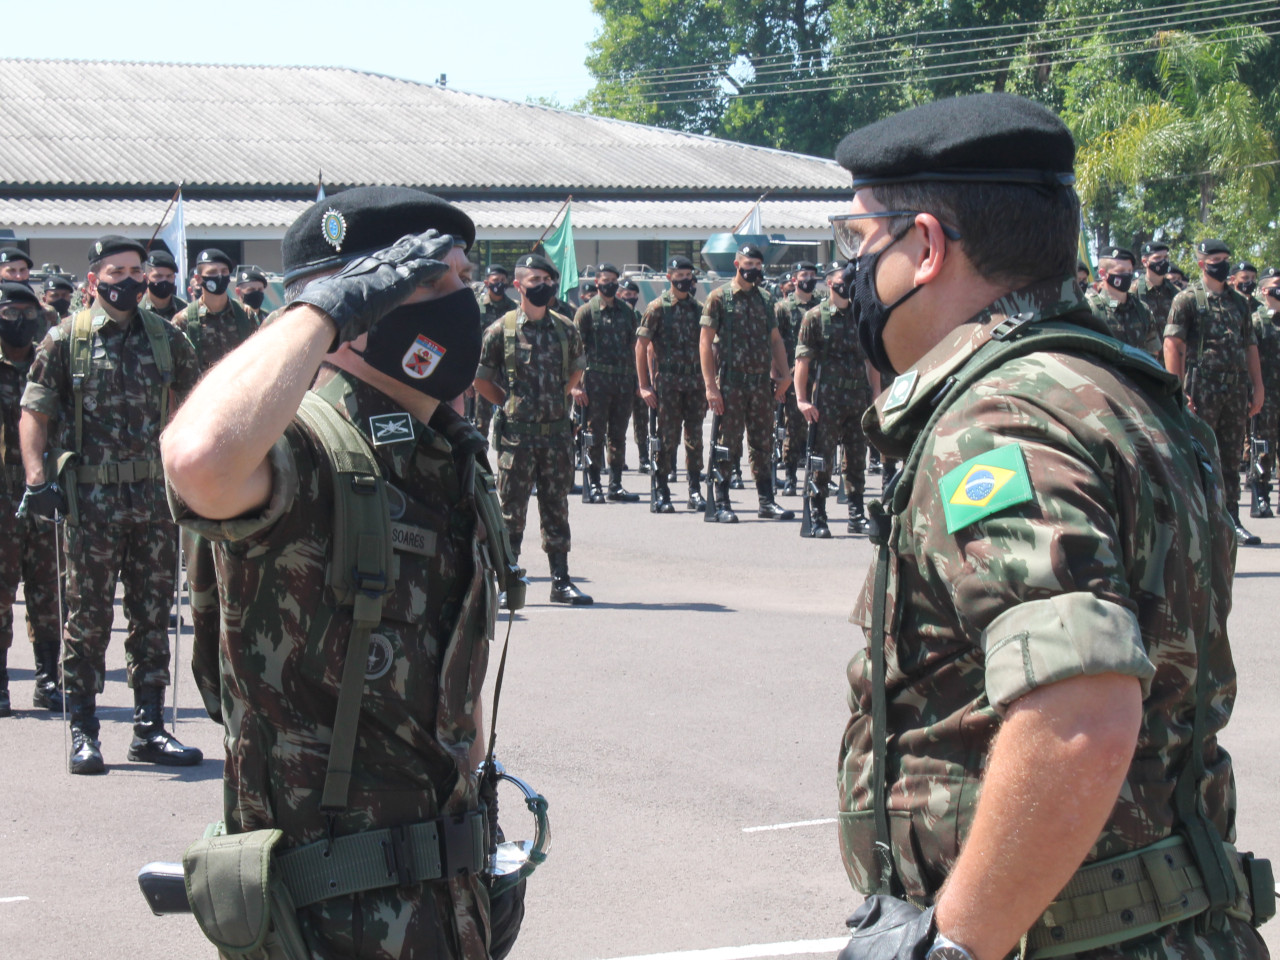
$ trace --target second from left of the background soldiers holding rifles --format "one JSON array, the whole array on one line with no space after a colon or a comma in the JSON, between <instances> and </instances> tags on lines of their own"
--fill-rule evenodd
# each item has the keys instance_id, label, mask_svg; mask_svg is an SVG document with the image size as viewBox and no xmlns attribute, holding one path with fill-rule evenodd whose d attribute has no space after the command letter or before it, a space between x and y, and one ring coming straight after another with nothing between
<instances>
[{"instance_id":1,"label":"second from left of the background soldiers holding rifles","mask_svg":"<svg viewBox=\"0 0 1280 960\"><path fill-rule=\"evenodd\" d=\"M707 388L701 378L698 344L701 337L703 305L694 296L694 262L675 256L667 262L667 289L650 301L636 328L636 375L640 397L658 410L658 492L669 513L668 477L676 470L676 444L685 433L685 472L689 479L689 509L705 509L703 499L703 424L707 420ZM657 381L650 378L657 371Z\"/></svg>"}]
</instances>

